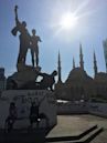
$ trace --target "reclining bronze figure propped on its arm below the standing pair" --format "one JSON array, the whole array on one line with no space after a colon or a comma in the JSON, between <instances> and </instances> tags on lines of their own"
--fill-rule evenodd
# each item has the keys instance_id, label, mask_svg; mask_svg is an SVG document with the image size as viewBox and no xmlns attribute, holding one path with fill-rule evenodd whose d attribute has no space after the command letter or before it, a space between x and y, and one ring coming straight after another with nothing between
<instances>
[{"instance_id":1,"label":"reclining bronze figure propped on its arm below the standing pair","mask_svg":"<svg viewBox=\"0 0 107 143\"><path fill-rule=\"evenodd\" d=\"M47 73L41 73L39 72L38 75L42 76L43 79L40 82L36 82L35 79L31 80L29 82L25 82L25 84L22 84L19 90L51 90L54 91L54 84L55 84L55 76L57 75L57 71L53 71L51 74ZM17 86L12 81L9 83L9 89L14 89Z\"/></svg>"}]
</instances>

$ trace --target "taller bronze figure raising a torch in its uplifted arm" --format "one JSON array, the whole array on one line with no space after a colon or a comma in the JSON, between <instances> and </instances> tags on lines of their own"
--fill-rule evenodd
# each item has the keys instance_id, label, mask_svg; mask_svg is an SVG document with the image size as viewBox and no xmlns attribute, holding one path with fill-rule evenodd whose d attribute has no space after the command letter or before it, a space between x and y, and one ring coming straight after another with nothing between
<instances>
[{"instance_id":1,"label":"taller bronze figure raising a torch in its uplifted arm","mask_svg":"<svg viewBox=\"0 0 107 143\"><path fill-rule=\"evenodd\" d=\"M17 33L20 32L20 35L19 35L20 50L19 50L19 57L18 57L18 64L19 63L25 64L26 52L28 52L28 49L30 48L30 34L29 34L28 29L26 29L26 22L19 21L18 6L14 7L14 14L15 14L15 27L12 29L11 32L13 35L17 35Z\"/></svg>"}]
</instances>

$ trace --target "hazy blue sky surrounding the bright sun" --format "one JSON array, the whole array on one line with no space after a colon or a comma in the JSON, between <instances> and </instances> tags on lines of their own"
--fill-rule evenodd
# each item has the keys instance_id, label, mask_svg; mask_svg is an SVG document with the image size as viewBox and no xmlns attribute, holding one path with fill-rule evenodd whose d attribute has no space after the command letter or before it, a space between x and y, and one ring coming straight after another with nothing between
<instances>
[{"instance_id":1,"label":"hazy blue sky surrounding the bright sun","mask_svg":"<svg viewBox=\"0 0 107 143\"><path fill-rule=\"evenodd\" d=\"M6 68L6 75L15 69L19 35L13 37L14 6L19 6L19 19L26 21L31 33L33 28L41 37L40 67L42 72L51 73L57 69L57 54L61 52L63 81L72 70L73 57L79 65L79 42L83 45L85 70L93 71L93 53L97 57L98 71L106 71L103 40L107 38L107 0L1 0L0 1L0 67ZM57 27L62 14L76 12L77 25L69 30ZM31 64L30 51L26 64Z\"/></svg>"}]
</instances>

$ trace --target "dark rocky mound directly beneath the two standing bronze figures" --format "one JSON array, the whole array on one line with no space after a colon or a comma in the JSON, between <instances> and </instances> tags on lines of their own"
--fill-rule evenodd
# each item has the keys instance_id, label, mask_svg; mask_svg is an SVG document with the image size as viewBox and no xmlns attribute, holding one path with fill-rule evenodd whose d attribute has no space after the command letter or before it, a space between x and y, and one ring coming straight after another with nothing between
<instances>
[{"instance_id":1,"label":"dark rocky mound directly beneath the two standing bronze figures","mask_svg":"<svg viewBox=\"0 0 107 143\"><path fill-rule=\"evenodd\" d=\"M30 67L24 64L19 64L18 72L14 72L7 80L7 89L8 90L17 90L22 89L29 82L35 82L39 73L41 71L41 67Z\"/></svg>"}]
</instances>

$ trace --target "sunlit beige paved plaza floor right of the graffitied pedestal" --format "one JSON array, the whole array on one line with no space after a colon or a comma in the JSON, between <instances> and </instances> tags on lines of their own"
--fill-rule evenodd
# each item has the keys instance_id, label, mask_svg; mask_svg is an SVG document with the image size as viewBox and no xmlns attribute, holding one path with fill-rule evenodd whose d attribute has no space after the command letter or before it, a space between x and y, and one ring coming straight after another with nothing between
<instances>
[{"instance_id":1,"label":"sunlit beige paved plaza floor right of the graffitied pedestal","mask_svg":"<svg viewBox=\"0 0 107 143\"><path fill-rule=\"evenodd\" d=\"M95 124L98 127L104 127L104 131L90 143L107 143L107 119L94 115L58 115L57 125L50 132L47 137L78 135Z\"/></svg>"}]
</instances>

